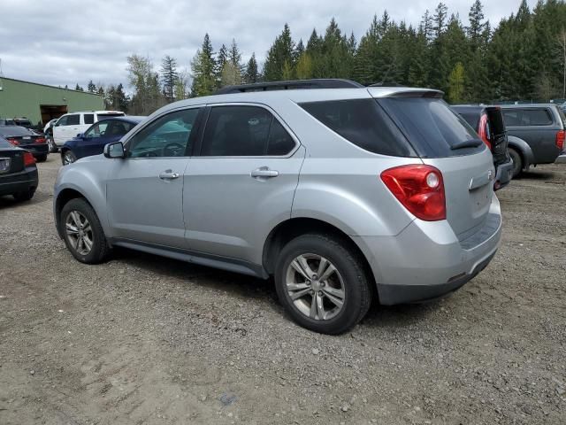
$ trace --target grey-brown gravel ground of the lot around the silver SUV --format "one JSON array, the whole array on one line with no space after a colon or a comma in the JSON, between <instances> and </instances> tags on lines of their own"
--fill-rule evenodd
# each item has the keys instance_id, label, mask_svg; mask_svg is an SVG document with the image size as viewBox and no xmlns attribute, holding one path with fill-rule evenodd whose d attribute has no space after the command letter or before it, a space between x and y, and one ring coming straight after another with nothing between
<instances>
[{"instance_id":1,"label":"grey-brown gravel ground of the lot around the silver SUV","mask_svg":"<svg viewBox=\"0 0 566 425\"><path fill-rule=\"evenodd\" d=\"M0 198L0 423L565 423L566 165L499 192L501 250L449 298L295 326L269 282L116 251L73 260Z\"/></svg>"}]
</instances>

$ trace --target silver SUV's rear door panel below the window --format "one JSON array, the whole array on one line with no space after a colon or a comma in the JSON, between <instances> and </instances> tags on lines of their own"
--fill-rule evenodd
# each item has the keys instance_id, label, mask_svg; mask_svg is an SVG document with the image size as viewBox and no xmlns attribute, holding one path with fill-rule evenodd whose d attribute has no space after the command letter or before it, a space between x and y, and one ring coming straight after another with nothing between
<instances>
[{"instance_id":1,"label":"silver SUV's rear door panel below the window","mask_svg":"<svg viewBox=\"0 0 566 425\"><path fill-rule=\"evenodd\" d=\"M291 158L191 158L183 188L190 250L261 264L265 237L291 217L303 158L302 147Z\"/></svg>"}]
</instances>

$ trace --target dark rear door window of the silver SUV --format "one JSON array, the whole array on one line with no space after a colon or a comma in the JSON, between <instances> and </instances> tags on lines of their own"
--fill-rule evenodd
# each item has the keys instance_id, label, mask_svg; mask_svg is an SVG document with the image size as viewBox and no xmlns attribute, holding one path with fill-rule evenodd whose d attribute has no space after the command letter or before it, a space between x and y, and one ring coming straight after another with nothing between
<instances>
[{"instance_id":1,"label":"dark rear door window of the silver SUV","mask_svg":"<svg viewBox=\"0 0 566 425\"><path fill-rule=\"evenodd\" d=\"M205 157L286 155L294 140L272 113L258 106L217 106L203 136Z\"/></svg>"}]
</instances>

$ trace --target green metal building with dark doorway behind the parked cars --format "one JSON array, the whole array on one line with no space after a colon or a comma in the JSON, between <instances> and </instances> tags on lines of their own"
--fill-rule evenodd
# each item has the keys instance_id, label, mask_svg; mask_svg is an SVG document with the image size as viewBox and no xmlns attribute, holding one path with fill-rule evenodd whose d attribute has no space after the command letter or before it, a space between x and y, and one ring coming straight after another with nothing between
<instances>
[{"instance_id":1,"label":"green metal building with dark doorway behind the parked cars","mask_svg":"<svg viewBox=\"0 0 566 425\"><path fill-rule=\"evenodd\" d=\"M94 93L0 77L0 118L26 117L33 124L46 124L67 112L103 109L103 97Z\"/></svg>"}]
</instances>

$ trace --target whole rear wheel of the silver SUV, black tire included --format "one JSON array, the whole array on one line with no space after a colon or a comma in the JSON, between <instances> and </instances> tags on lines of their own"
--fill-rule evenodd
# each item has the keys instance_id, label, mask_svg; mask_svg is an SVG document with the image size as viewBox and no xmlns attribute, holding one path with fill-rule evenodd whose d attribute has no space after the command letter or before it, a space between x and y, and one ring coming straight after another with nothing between
<instances>
[{"instance_id":1,"label":"whole rear wheel of the silver SUV, black tire included","mask_svg":"<svg viewBox=\"0 0 566 425\"><path fill-rule=\"evenodd\" d=\"M294 321L323 334L346 332L371 305L358 253L341 238L308 234L283 248L275 267L279 301Z\"/></svg>"}]
</instances>

